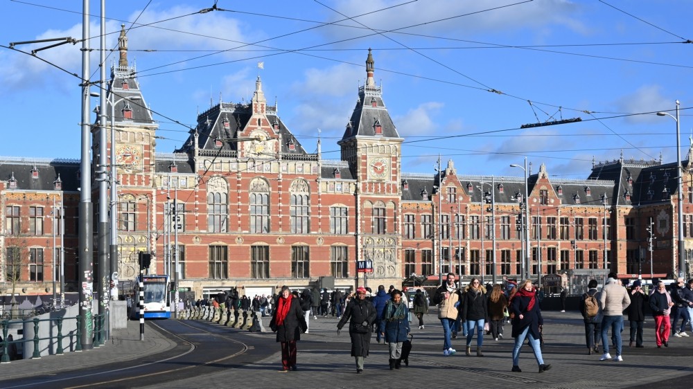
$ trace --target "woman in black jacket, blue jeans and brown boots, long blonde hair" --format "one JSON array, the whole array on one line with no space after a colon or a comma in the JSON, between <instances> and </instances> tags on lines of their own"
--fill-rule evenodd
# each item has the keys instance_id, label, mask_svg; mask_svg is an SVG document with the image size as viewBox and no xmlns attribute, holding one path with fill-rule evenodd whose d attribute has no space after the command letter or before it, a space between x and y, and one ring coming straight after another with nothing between
<instances>
[{"instance_id":1,"label":"woman in black jacket, blue jeans and brown boots, long blonde hair","mask_svg":"<svg viewBox=\"0 0 693 389\"><path fill-rule=\"evenodd\" d=\"M484 356L481 347L484 344L484 323L489 316L489 306L486 301L486 288L476 278L464 289L462 298L462 320L467 325L466 355L471 355L471 344L474 338L474 329L477 330L477 356Z\"/></svg>"}]
</instances>

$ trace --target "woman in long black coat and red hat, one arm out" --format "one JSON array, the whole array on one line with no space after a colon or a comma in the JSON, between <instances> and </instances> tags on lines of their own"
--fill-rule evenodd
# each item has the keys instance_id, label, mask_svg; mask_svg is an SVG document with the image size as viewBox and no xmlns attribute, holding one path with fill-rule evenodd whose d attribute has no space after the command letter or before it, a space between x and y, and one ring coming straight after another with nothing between
<instances>
[{"instance_id":1,"label":"woman in long black coat and red hat, one arm out","mask_svg":"<svg viewBox=\"0 0 693 389\"><path fill-rule=\"evenodd\" d=\"M366 288L356 288L356 298L351 299L344 310L342 320L337 323L337 336L341 334L347 321L351 337L351 356L356 359L356 374L361 374L371 344L371 326L376 321L376 309L366 300Z\"/></svg>"}]
</instances>

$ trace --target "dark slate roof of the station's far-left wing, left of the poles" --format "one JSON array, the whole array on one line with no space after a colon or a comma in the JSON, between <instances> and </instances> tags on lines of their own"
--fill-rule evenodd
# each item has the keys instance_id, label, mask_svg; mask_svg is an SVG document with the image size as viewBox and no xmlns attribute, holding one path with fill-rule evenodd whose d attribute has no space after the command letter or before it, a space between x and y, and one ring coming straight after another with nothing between
<instances>
[{"instance_id":1,"label":"dark slate roof of the station's far-left wing, left of the poles","mask_svg":"<svg viewBox=\"0 0 693 389\"><path fill-rule=\"evenodd\" d=\"M38 177L32 177L32 170ZM17 180L17 190L55 190L53 181L60 177L62 190L77 191L80 186L78 172L80 161L76 159L30 159L0 157L0 180ZM9 186L6 188L11 189Z\"/></svg>"}]
</instances>

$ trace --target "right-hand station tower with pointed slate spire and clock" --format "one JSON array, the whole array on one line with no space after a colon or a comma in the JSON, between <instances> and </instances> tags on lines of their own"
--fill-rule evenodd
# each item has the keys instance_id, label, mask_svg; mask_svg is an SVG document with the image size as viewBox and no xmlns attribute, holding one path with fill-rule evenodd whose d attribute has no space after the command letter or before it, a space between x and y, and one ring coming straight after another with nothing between
<instances>
[{"instance_id":1,"label":"right-hand station tower with pointed slate spire and clock","mask_svg":"<svg viewBox=\"0 0 693 389\"><path fill-rule=\"evenodd\" d=\"M342 160L356 178L357 261L372 264L368 278L401 282L401 145L404 141L392 122L383 89L374 82L371 50L366 60L366 82L344 136L339 141Z\"/></svg>"}]
</instances>

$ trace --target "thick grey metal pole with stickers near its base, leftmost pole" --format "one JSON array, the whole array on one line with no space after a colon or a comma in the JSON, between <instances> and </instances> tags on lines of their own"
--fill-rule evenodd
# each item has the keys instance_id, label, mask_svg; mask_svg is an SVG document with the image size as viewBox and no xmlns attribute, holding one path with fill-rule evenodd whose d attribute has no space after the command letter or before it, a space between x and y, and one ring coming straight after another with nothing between
<instances>
[{"instance_id":1,"label":"thick grey metal pole with stickers near its base, leftmost pole","mask_svg":"<svg viewBox=\"0 0 693 389\"><path fill-rule=\"evenodd\" d=\"M79 291L80 291L80 341L82 350L94 348L94 318L91 301L94 289L94 252L92 248L93 215L91 206L91 153L89 115L89 0L82 0L82 126L80 161L80 232L79 232Z\"/></svg>"}]
</instances>

